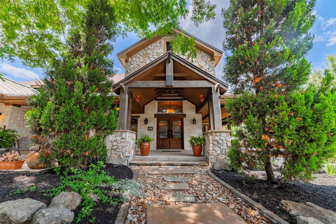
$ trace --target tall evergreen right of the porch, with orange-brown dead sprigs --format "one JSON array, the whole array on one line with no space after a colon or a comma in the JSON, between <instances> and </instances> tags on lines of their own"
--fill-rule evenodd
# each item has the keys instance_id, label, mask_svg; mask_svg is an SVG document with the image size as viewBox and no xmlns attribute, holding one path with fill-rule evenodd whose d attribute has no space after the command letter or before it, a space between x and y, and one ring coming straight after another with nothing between
<instances>
[{"instance_id":1,"label":"tall evergreen right of the porch, with orange-brown dead sprigs","mask_svg":"<svg viewBox=\"0 0 336 224\"><path fill-rule=\"evenodd\" d=\"M267 180L309 180L335 153L335 76L309 83L315 21L314 0L230 1L222 11L230 53L223 79L235 94L227 100L237 139L230 147L231 167L263 166ZM272 160L282 158L279 178Z\"/></svg>"}]
</instances>

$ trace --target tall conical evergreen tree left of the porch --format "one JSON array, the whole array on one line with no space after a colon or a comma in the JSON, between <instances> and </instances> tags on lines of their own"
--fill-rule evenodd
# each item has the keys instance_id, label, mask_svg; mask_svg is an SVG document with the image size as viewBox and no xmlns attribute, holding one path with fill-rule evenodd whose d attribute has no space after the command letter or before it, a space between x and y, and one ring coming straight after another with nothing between
<instances>
[{"instance_id":1,"label":"tall conical evergreen tree left of the porch","mask_svg":"<svg viewBox=\"0 0 336 224\"><path fill-rule=\"evenodd\" d=\"M115 38L114 11L109 1L92 0L81 18L83 23L67 38L69 50L52 61L25 116L37 143L52 140L50 153L40 153L40 159L51 165L57 159L68 168L104 159L104 136L117 128L110 93L114 63L108 57Z\"/></svg>"}]
</instances>

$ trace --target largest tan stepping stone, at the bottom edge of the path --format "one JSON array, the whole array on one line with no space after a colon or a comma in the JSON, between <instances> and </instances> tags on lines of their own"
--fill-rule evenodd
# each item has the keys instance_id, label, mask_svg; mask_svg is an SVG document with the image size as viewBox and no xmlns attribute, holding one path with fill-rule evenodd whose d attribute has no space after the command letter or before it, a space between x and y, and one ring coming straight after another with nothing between
<instances>
[{"instance_id":1,"label":"largest tan stepping stone, at the bottom edge of the path","mask_svg":"<svg viewBox=\"0 0 336 224\"><path fill-rule=\"evenodd\" d=\"M224 203L149 206L146 224L246 224Z\"/></svg>"}]
</instances>

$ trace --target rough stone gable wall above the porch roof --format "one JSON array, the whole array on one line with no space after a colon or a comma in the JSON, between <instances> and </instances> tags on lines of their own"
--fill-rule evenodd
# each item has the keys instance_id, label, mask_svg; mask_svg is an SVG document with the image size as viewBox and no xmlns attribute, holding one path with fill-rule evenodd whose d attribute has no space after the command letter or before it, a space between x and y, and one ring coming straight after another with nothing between
<instances>
[{"instance_id":1,"label":"rough stone gable wall above the porch roof","mask_svg":"<svg viewBox=\"0 0 336 224\"><path fill-rule=\"evenodd\" d=\"M171 38L171 37L163 37L160 40L156 41L155 43L151 44L150 46L144 48L143 50L139 51L138 53L134 54L129 58L129 61L126 62L126 69L125 69L125 77L129 76L133 72L137 71L138 69L142 68L146 64L154 61L156 58L163 55L164 52L164 39ZM186 59L187 56L180 55L179 56L183 59ZM215 62L211 60L209 54L198 51L197 57L194 60L188 60L190 63L198 66L198 68L204 70L205 72L216 76L215 74Z\"/></svg>"}]
</instances>

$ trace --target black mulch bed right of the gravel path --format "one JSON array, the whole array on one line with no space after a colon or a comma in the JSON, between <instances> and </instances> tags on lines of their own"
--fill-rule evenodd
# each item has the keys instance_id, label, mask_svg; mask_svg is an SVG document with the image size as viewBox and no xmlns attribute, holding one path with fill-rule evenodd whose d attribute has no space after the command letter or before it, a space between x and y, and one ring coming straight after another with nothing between
<instances>
[{"instance_id":1,"label":"black mulch bed right of the gravel path","mask_svg":"<svg viewBox=\"0 0 336 224\"><path fill-rule=\"evenodd\" d=\"M254 171L254 180L224 170L214 170L213 174L291 224L296 224L296 220L279 208L281 200L308 201L336 211L336 178L328 176L326 172L314 175L317 179L311 183L287 182L285 187L267 182L264 171Z\"/></svg>"}]
</instances>

